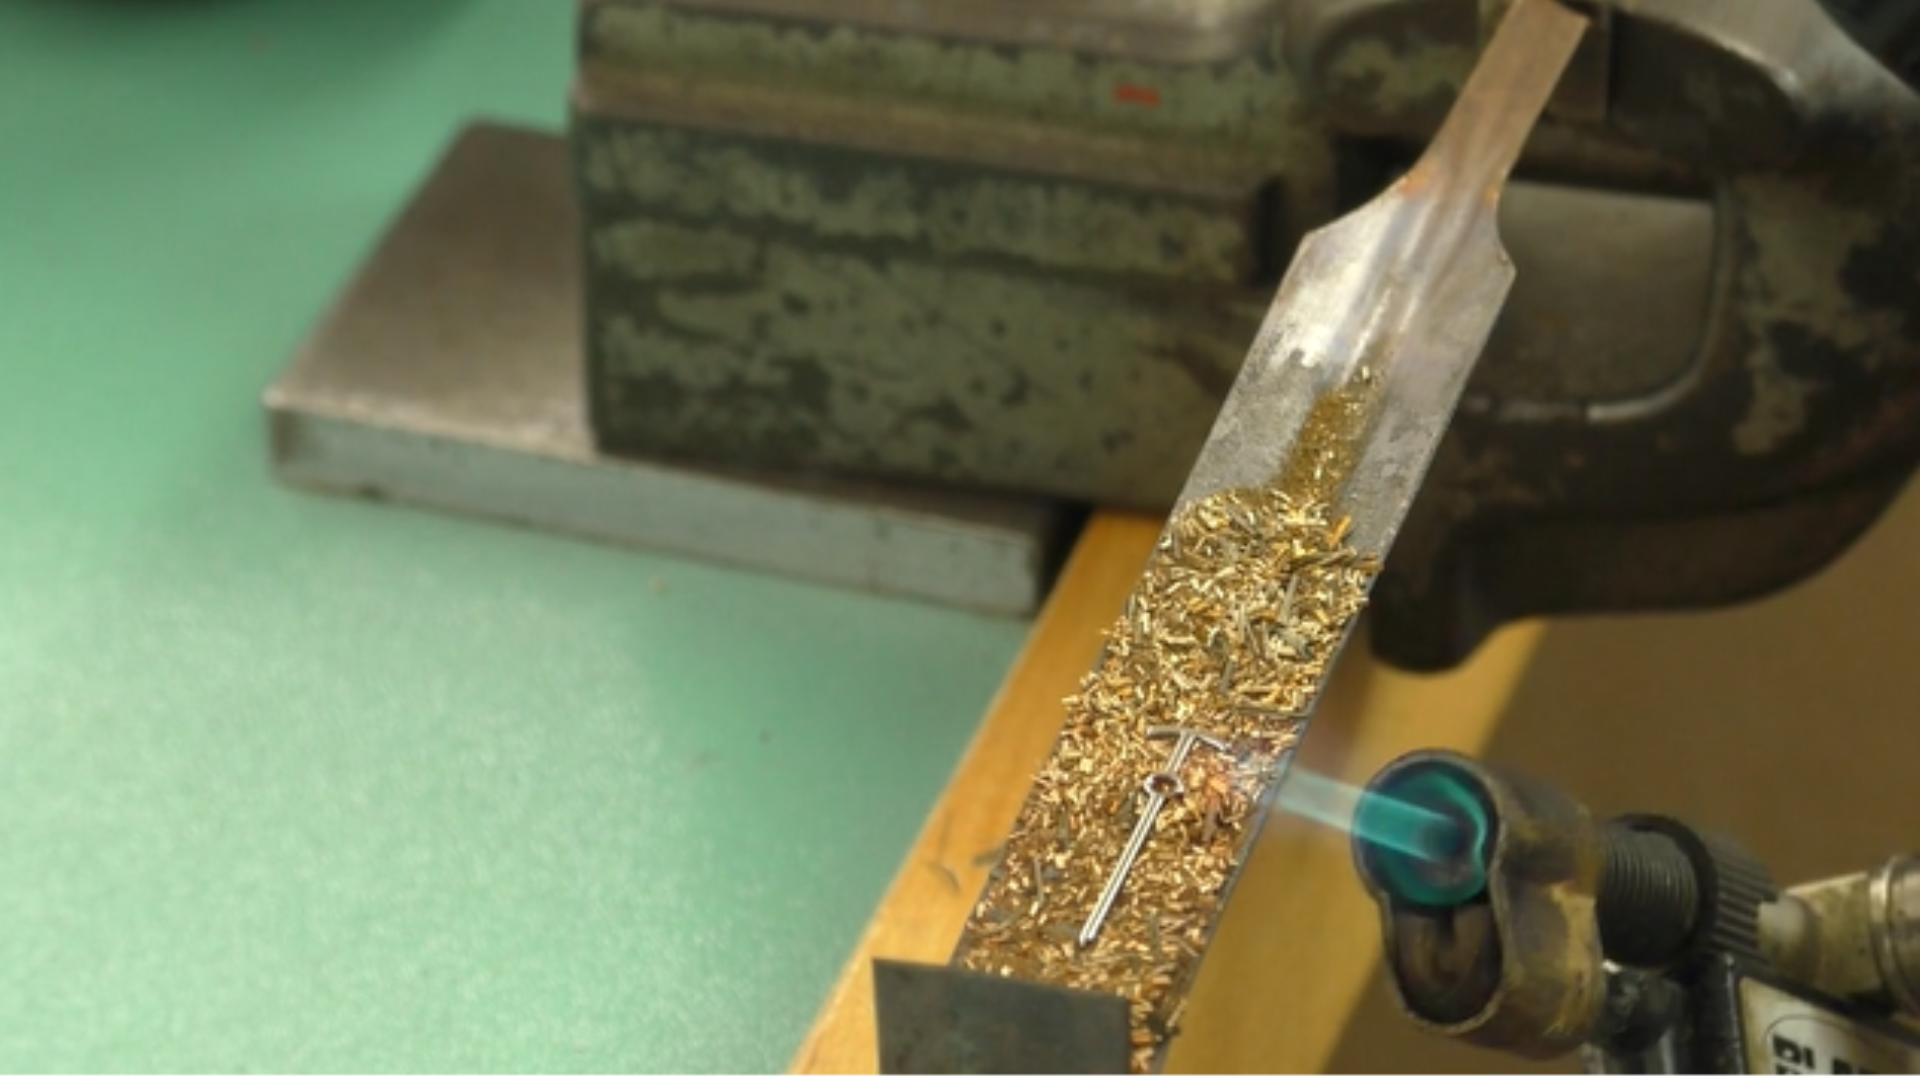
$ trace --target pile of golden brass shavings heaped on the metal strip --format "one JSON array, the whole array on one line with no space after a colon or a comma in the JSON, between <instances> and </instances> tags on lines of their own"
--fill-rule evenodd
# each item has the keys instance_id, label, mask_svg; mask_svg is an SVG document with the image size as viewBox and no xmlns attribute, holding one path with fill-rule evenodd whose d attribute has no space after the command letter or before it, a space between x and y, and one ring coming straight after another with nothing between
<instances>
[{"instance_id":1,"label":"pile of golden brass shavings heaped on the metal strip","mask_svg":"<svg viewBox=\"0 0 1920 1080\"><path fill-rule=\"evenodd\" d=\"M1008 834L954 963L1131 1001L1133 1068L1173 1036L1223 888L1379 561L1346 519L1281 490L1229 490L1175 511L1100 663ZM1165 799L1112 913L1092 913L1167 767L1150 728L1206 736ZM1165 734L1165 732L1156 732Z\"/></svg>"}]
</instances>

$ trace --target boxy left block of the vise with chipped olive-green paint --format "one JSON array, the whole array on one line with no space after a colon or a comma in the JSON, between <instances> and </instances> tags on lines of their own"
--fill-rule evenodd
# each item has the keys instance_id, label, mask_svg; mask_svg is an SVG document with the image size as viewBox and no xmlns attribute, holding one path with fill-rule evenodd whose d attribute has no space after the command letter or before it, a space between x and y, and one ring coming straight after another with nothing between
<instances>
[{"instance_id":1,"label":"boxy left block of the vise with chipped olive-green paint","mask_svg":"<svg viewBox=\"0 0 1920 1080\"><path fill-rule=\"evenodd\" d=\"M1164 509L1332 209L1271 33L1169 63L833 12L584 8L603 446Z\"/></svg>"}]
</instances>

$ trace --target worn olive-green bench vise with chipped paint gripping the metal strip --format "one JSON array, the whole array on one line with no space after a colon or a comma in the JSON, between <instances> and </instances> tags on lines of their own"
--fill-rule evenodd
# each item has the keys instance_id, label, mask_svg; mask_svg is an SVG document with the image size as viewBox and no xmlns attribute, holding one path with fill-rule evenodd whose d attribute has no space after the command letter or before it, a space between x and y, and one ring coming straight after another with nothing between
<instances>
[{"instance_id":1,"label":"worn olive-green bench vise with chipped paint gripping the metal strip","mask_svg":"<svg viewBox=\"0 0 1920 1080\"><path fill-rule=\"evenodd\" d=\"M1171 505L1260 286L1413 160L1480 40L1478 0L1256 8L1139 8L1179 48L1261 27L1175 60L1091 2L1031 38L968 4L588 4L601 438ZM1605 119L1588 86L1536 131L1521 284L1375 596L1405 667L1799 580L1920 455L1920 106L1874 60L1920 8L1843 4L1874 52L1814 0L1605 8Z\"/></svg>"}]
</instances>

